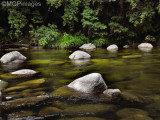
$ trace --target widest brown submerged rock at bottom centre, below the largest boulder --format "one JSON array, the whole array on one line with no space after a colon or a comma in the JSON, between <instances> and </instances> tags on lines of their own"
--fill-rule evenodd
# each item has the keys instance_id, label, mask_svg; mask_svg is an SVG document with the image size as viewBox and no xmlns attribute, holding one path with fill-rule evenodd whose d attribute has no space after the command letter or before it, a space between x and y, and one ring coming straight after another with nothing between
<instances>
[{"instance_id":1,"label":"widest brown submerged rock at bottom centre, below the largest boulder","mask_svg":"<svg viewBox=\"0 0 160 120\"><path fill-rule=\"evenodd\" d=\"M67 115L93 115L111 112L115 109L116 107L110 104L86 104L68 107L64 110L64 113Z\"/></svg>"}]
</instances>

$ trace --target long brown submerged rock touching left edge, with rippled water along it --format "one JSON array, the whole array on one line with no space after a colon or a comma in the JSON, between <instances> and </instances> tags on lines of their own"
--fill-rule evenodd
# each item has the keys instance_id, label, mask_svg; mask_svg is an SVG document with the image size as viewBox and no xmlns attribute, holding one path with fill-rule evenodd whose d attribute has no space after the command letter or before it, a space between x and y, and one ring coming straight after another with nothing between
<instances>
[{"instance_id":1,"label":"long brown submerged rock touching left edge, with rippled water along it","mask_svg":"<svg viewBox=\"0 0 160 120\"><path fill-rule=\"evenodd\" d=\"M0 108L8 110L18 107L29 107L32 105L36 105L39 102L46 100L47 98L48 96L37 96L37 97L20 98L12 101L5 101L0 103Z\"/></svg>"}]
</instances>

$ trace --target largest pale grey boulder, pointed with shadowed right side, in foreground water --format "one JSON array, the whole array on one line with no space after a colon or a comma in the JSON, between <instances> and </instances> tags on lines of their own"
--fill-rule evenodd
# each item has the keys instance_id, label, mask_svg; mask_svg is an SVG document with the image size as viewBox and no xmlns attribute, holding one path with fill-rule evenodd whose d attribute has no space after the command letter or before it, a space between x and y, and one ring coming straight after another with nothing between
<instances>
[{"instance_id":1,"label":"largest pale grey boulder, pointed with shadowed right side, in foreground water","mask_svg":"<svg viewBox=\"0 0 160 120\"><path fill-rule=\"evenodd\" d=\"M107 89L107 85L99 73L91 73L78 78L71 82L68 87L84 93L102 93Z\"/></svg>"}]
</instances>

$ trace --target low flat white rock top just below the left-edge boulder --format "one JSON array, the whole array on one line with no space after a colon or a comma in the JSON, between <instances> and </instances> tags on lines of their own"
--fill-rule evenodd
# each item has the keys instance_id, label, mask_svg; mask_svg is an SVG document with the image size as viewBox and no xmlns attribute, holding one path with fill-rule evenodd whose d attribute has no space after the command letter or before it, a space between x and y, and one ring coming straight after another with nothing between
<instances>
[{"instance_id":1,"label":"low flat white rock top just below the left-edge boulder","mask_svg":"<svg viewBox=\"0 0 160 120\"><path fill-rule=\"evenodd\" d=\"M30 69L22 69L22 70L17 70L15 72L11 72L12 75L34 75L37 72L34 70Z\"/></svg>"}]
</instances>

